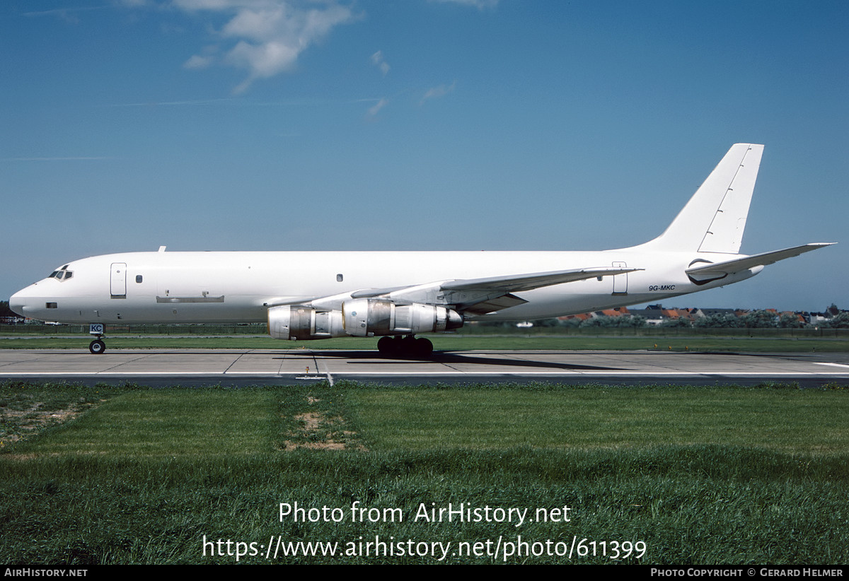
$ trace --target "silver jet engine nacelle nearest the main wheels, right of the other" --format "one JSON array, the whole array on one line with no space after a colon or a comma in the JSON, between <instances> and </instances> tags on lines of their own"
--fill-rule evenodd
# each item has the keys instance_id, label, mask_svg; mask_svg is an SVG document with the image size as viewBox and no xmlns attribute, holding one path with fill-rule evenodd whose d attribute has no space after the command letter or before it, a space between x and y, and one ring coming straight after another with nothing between
<instances>
[{"instance_id":1,"label":"silver jet engine nacelle nearest the main wheels, right of the other","mask_svg":"<svg viewBox=\"0 0 849 581\"><path fill-rule=\"evenodd\" d=\"M342 304L345 332L357 337L438 332L463 327L456 310L430 304L397 305L391 300L354 299Z\"/></svg>"}]
</instances>

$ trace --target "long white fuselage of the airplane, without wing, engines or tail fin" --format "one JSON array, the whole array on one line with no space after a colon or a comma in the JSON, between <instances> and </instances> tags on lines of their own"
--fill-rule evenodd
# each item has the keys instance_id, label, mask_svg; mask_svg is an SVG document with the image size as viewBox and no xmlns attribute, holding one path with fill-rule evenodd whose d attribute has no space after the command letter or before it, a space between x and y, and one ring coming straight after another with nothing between
<instances>
[{"instance_id":1,"label":"long white fuselage of the airplane, without wing, engines or tail fin","mask_svg":"<svg viewBox=\"0 0 849 581\"><path fill-rule=\"evenodd\" d=\"M336 297L339 309L357 290L397 288L411 280L496 277L598 267L642 270L514 293L527 302L467 319L525 321L640 304L715 288L761 270L695 284L694 260L739 254L645 252L134 252L65 265L71 276L45 278L15 293L16 312L62 323L241 323L267 321L273 304ZM61 270L58 270L59 272ZM340 295L337 297L337 295Z\"/></svg>"}]
</instances>

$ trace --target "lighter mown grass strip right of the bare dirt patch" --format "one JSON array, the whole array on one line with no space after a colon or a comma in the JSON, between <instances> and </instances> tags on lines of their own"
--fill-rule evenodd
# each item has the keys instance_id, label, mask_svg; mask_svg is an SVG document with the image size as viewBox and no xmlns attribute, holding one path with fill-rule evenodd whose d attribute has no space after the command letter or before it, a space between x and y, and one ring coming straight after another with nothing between
<instances>
[{"instance_id":1,"label":"lighter mown grass strip right of the bare dirt patch","mask_svg":"<svg viewBox=\"0 0 849 581\"><path fill-rule=\"evenodd\" d=\"M638 449L718 444L849 450L849 398L819 390L572 388L361 390L349 397L371 447ZM402 418L402 421L399 421ZM438 436L436 436L438 434Z\"/></svg>"}]
</instances>

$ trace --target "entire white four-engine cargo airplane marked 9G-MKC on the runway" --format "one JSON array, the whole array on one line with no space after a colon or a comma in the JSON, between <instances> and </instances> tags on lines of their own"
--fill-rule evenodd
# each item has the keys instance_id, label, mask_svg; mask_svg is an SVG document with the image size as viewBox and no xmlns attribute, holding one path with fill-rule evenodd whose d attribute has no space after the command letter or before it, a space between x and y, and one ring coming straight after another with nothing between
<instances>
[{"instance_id":1,"label":"entire white four-engine cargo airplane marked 9G-MKC on the runway","mask_svg":"<svg viewBox=\"0 0 849 581\"><path fill-rule=\"evenodd\" d=\"M382 336L424 356L417 333L638 304L753 277L827 246L738 254L762 145L738 143L661 236L598 252L134 252L65 264L15 293L21 316L104 324L267 321L280 339Z\"/></svg>"}]
</instances>

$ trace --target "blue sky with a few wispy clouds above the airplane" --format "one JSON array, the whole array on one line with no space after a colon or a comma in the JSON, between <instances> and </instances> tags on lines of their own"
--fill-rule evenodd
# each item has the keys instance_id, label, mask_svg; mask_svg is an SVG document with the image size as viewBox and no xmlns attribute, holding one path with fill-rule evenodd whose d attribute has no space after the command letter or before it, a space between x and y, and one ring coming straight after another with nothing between
<instances>
[{"instance_id":1,"label":"blue sky with a few wispy clouds above the airplane","mask_svg":"<svg viewBox=\"0 0 849 581\"><path fill-rule=\"evenodd\" d=\"M758 142L741 250L840 244L667 306L849 308L846 30L846 2L5 0L0 298L160 245L629 246Z\"/></svg>"}]
</instances>

